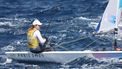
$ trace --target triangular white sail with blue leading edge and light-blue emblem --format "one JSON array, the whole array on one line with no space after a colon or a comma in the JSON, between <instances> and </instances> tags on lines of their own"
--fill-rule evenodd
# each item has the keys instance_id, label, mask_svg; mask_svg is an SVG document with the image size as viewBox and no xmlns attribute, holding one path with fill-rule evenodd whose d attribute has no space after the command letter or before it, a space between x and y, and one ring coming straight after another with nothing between
<instances>
[{"instance_id":1,"label":"triangular white sail with blue leading edge and light-blue emblem","mask_svg":"<svg viewBox=\"0 0 122 69\"><path fill-rule=\"evenodd\" d=\"M108 5L104 11L101 22L98 24L96 31L108 32L116 28L116 16L117 16L117 7L119 0L109 0Z\"/></svg>"}]
</instances>

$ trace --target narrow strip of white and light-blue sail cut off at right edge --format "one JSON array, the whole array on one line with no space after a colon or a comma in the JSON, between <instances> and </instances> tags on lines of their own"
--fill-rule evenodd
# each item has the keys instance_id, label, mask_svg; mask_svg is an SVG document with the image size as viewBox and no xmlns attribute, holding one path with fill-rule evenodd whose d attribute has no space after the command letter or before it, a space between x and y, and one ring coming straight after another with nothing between
<instances>
[{"instance_id":1,"label":"narrow strip of white and light-blue sail cut off at right edge","mask_svg":"<svg viewBox=\"0 0 122 69\"><path fill-rule=\"evenodd\" d=\"M117 14L118 39L122 39L122 0L119 0Z\"/></svg>"}]
</instances>

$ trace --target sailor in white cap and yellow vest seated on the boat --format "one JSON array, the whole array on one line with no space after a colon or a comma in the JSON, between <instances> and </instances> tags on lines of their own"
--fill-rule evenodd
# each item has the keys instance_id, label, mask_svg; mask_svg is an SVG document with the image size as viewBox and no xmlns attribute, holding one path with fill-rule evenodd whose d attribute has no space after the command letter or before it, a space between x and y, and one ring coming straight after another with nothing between
<instances>
[{"instance_id":1,"label":"sailor in white cap and yellow vest seated on the boat","mask_svg":"<svg viewBox=\"0 0 122 69\"><path fill-rule=\"evenodd\" d=\"M38 19L35 19L27 31L28 47L33 53L43 52L45 48L46 39L42 37L39 31L41 26L42 23Z\"/></svg>"}]
</instances>

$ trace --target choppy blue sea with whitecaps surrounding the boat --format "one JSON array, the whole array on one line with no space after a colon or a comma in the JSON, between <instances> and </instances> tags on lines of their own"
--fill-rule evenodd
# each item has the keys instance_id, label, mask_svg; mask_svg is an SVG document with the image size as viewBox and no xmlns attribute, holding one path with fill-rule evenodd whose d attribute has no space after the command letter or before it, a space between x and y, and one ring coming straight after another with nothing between
<instances>
[{"instance_id":1,"label":"choppy blue sea with whitecaps surrounding the boat","mask_svg":"<svg viewBox=\"0 0 122 69\"><path fill-rule=\"evenodd\" d=\"M56 51L113 50L112 37L92 34L95 31L92 24L100 22L107 3L108 0L0 0L1 54L9 50L29 50L26 32L35 18L43 23L40 31ZM67 67L54 64L56 68L53 68L52 63L43 64L47 67L44 69ZM20 66L23 67L24 64ZM102 67L101 64L98 65L100 66ZM88 64L84 67L93 69Z\"/></svg>"}]
</instances>

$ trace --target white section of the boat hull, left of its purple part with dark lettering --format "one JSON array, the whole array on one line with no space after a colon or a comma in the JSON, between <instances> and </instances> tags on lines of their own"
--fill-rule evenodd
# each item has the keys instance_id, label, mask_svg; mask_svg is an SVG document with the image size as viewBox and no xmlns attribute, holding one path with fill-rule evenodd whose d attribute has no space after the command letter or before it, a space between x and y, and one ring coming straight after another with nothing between
<instances>
[{"instance_id":1,"label":"white section of the boat hull, left of its purple part with dark lettering","mask_svg":"<svg viewBox=\"0 0 122 69\"><path fill-rule=\"evenodd\" d=\"M40 62L54 62L66 64L76 58L90 56L89 53L70 53L70 52L43 52L39 54L34 54L31 52L6 52L5 53L9 59L17 60L20 62L31 62L31 63L40 63Z\"/></svg>"}]
</instances>

